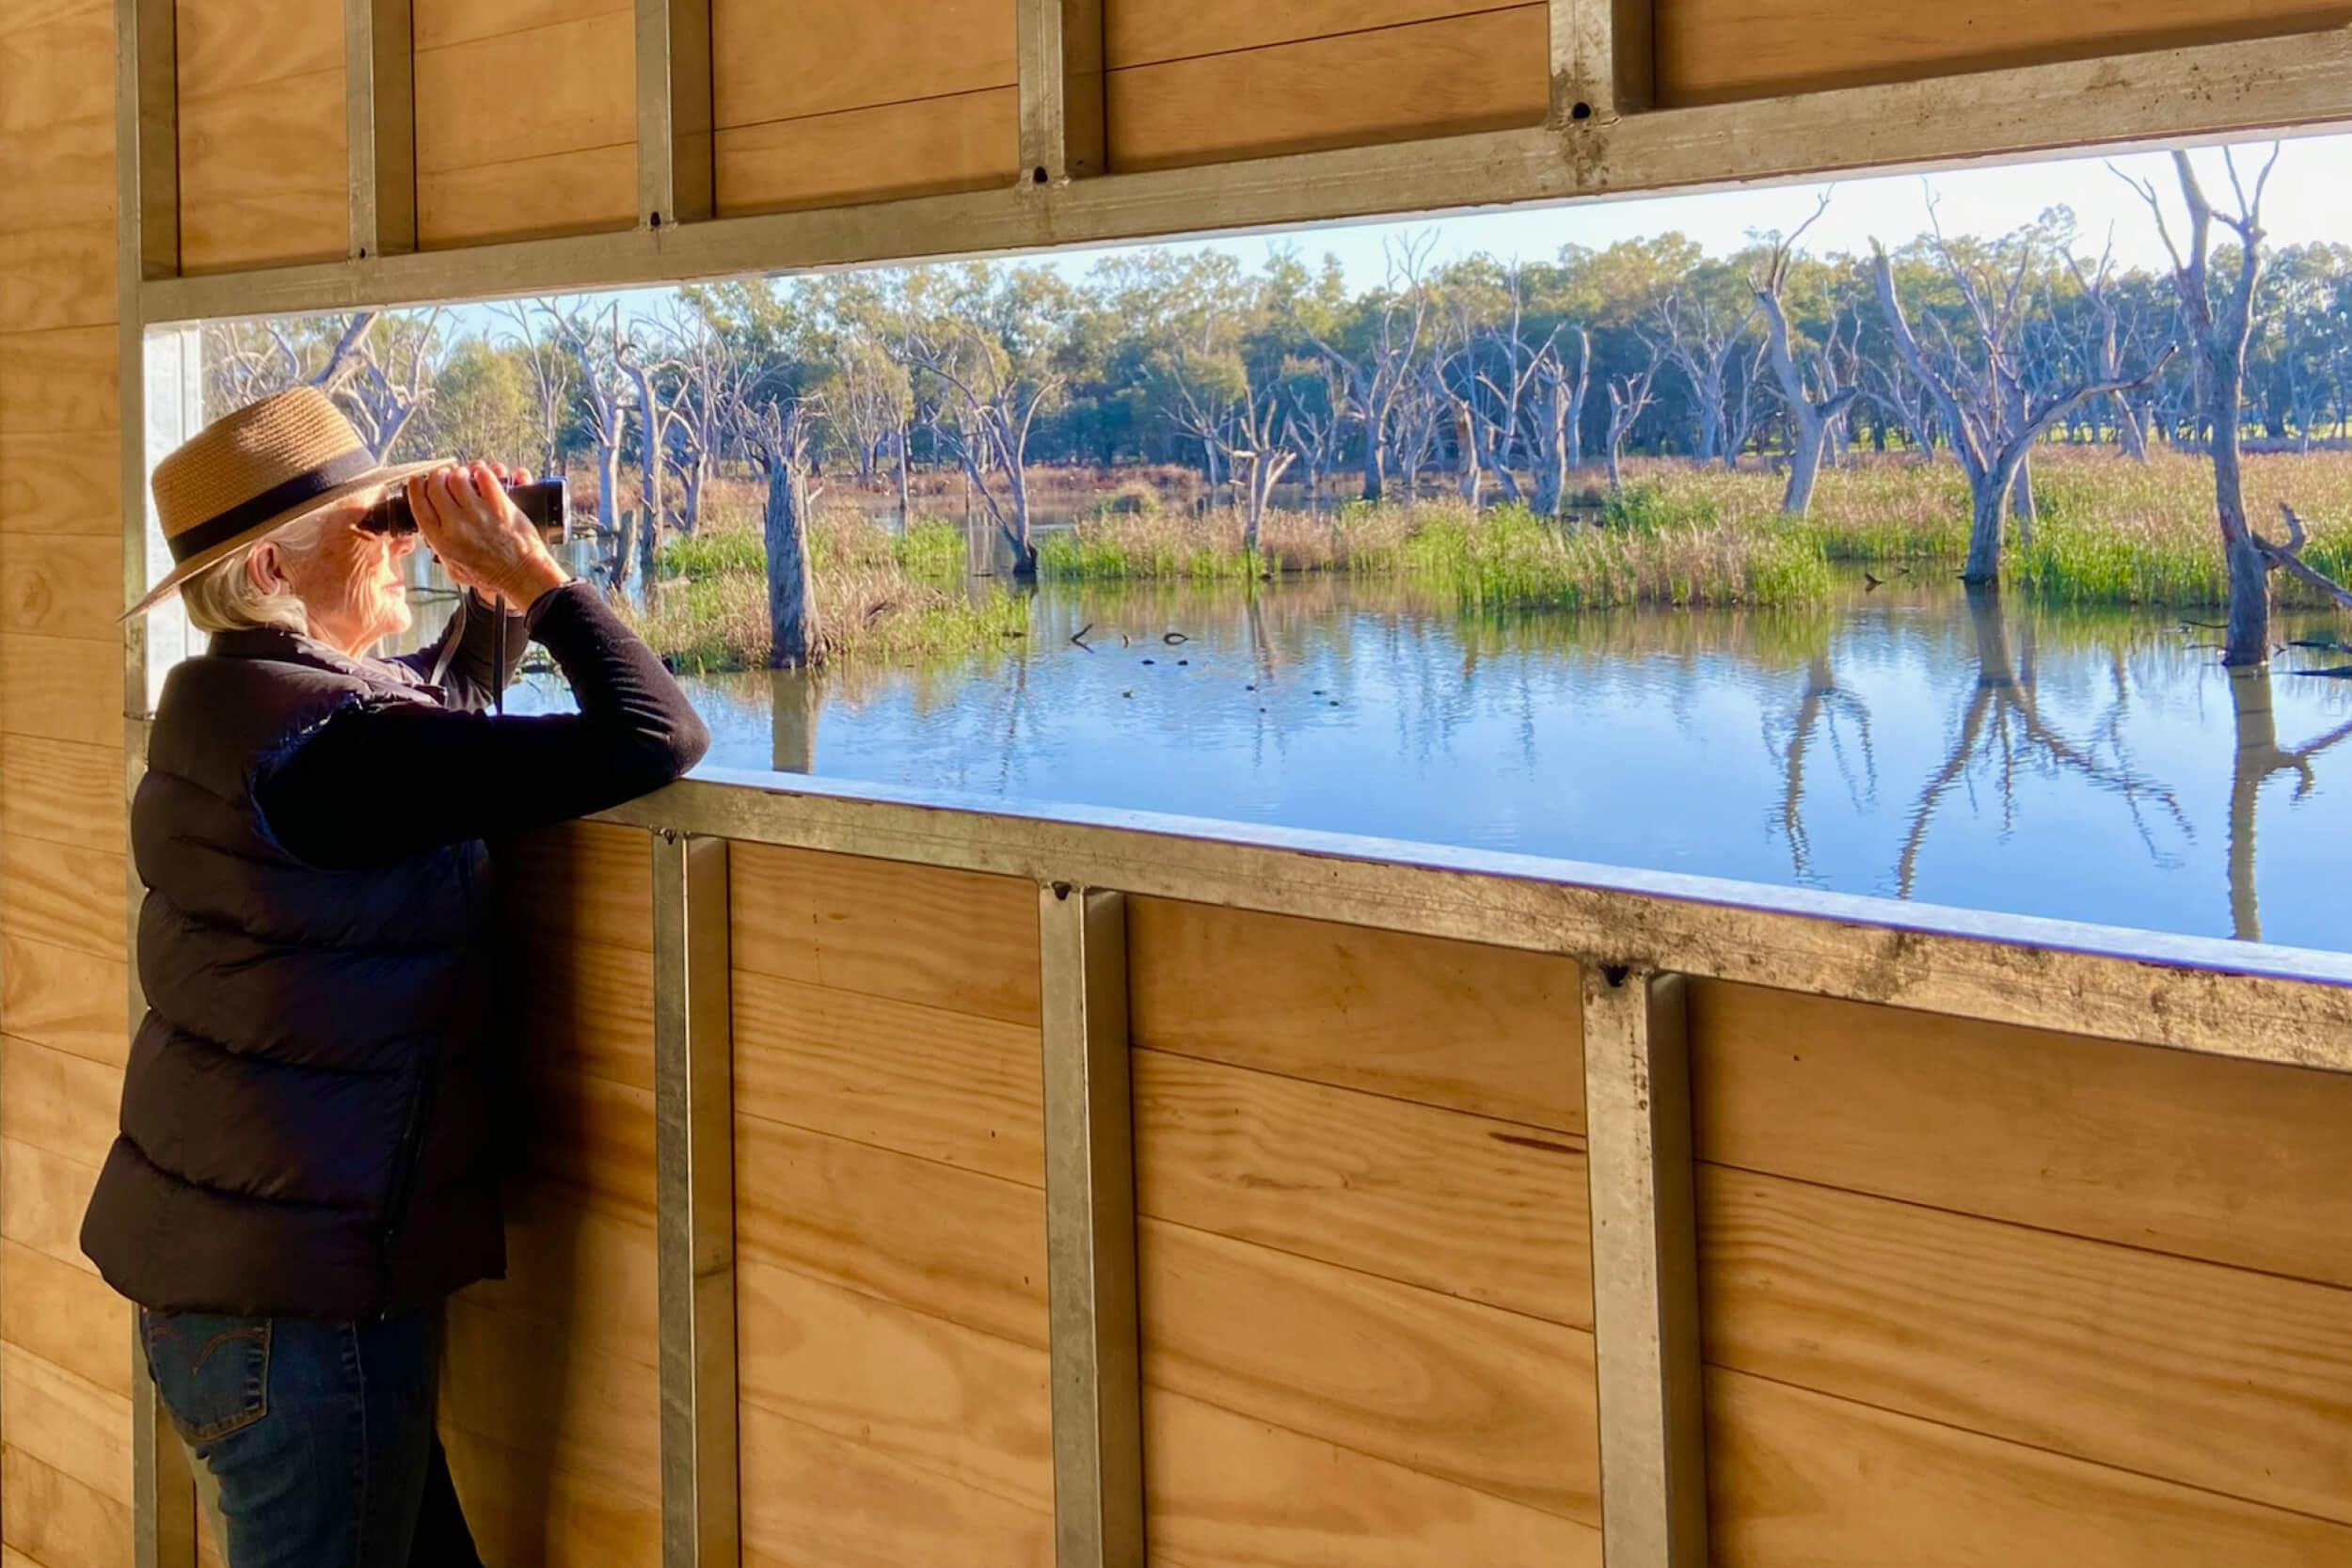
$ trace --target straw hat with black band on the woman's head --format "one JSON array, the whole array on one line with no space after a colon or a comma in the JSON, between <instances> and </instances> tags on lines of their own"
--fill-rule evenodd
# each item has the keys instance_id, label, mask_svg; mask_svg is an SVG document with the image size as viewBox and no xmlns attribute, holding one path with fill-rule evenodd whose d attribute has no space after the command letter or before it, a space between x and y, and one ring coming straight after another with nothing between
<instances>
[{"instance_id":1,"label":"straw hat with black band on the woman's head","mask_svg":"<svg viewBox=\"0 0 2352 1568\"><path fill-rule=\"evenodd\" d=\"M440 463L379 463L315 386L249 402L155 463L155 515L174 564L122 618L153 609L205 567L296 517L430 468Z\"/></svg>"}]
</instances>

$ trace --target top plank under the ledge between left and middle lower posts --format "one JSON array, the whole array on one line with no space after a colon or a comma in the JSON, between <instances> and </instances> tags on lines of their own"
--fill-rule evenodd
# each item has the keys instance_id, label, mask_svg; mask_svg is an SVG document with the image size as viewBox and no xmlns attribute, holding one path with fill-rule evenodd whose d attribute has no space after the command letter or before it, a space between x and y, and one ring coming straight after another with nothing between
<instances>
[{"instance_id":1,"label":"top plank under the ledge between left and middle lower posts","mask_svg":"<svg viewBox=\"0 0 2352 1568\"><path fill-rule=\"evenodd\" d=\"M729 851L734 966L1037 1023L1037 889L771 844Z\"/></svg>"}]
</instances>

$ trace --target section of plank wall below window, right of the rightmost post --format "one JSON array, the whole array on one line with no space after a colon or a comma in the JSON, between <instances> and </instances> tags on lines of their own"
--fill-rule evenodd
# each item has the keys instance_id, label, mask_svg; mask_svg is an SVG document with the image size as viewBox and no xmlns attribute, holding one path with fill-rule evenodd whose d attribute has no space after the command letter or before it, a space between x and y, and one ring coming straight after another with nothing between
<instances>
[{"instance_id":1,"label":"section of plank wall below window, right of the rightmost post","mask_svg":"<svg viewBox=\"0 0 2352 1568\"><path fill-rule=\"evenodd\" d=\"M1715 1561L2352 1561L2352 1077L1700 985Z\"/></svg>"}]
</instances>

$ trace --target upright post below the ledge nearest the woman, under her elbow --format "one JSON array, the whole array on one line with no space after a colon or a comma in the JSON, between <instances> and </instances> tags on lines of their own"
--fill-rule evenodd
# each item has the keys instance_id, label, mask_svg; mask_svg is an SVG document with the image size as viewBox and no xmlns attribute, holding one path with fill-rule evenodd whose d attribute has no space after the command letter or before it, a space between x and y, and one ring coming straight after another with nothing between
<instances>
[{"instance_id":1,"label":"upright post below the ledge nearest the woman, under her elbow","mask_svg":"<svg viewBox=\"0 0 2352 1568\"><path fill-rule=\"evenodd\" d=\"M661 1566L739 1561L727 839L654 835Z\"/></svg>"}]
</instances>

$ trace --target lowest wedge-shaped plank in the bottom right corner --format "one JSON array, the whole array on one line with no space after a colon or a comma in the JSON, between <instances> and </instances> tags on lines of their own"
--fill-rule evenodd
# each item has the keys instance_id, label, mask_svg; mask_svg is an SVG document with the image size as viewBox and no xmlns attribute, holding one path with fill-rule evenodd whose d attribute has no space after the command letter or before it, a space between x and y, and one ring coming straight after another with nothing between
<instances>
[{"instance_id":1,"label":"lowest wedge-shaped plank in the bottom right corner","mask_svg":"<svg viewBox=\"0 0 2352 1568\"><path fill-rule=\"evenodd\" d=\"M1722 1568L2319 1568L2345 1526L1743 1373L1708 1373Z\"/></svg>"}]
</instances>

